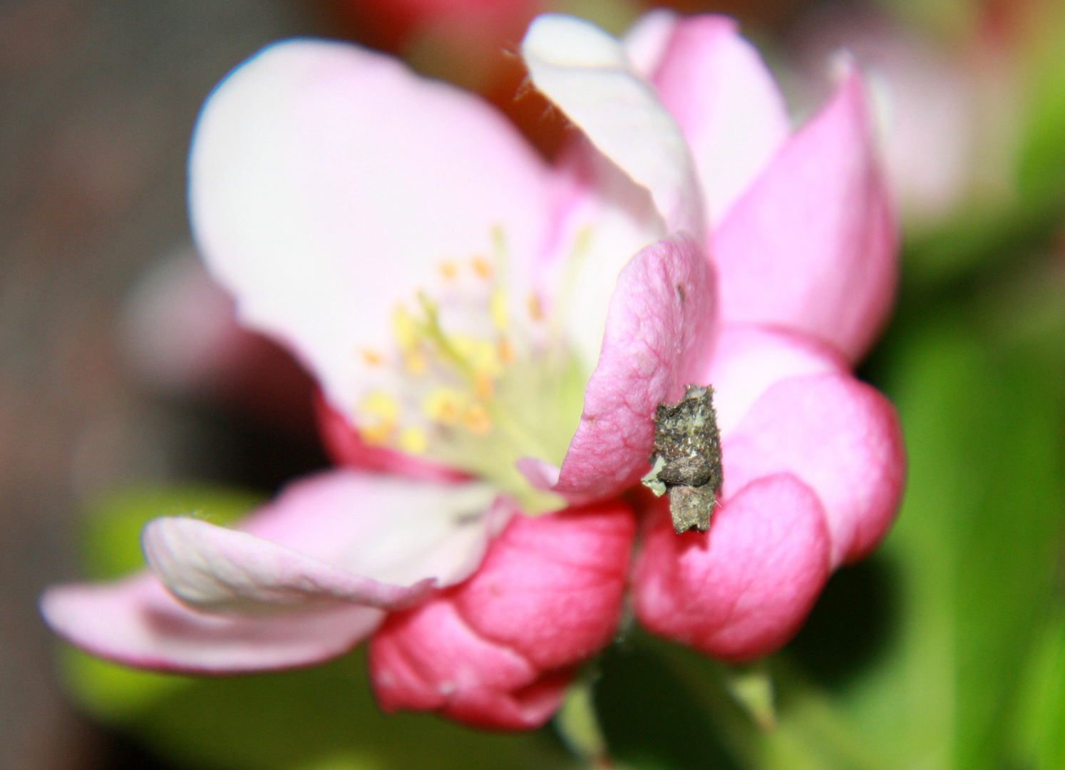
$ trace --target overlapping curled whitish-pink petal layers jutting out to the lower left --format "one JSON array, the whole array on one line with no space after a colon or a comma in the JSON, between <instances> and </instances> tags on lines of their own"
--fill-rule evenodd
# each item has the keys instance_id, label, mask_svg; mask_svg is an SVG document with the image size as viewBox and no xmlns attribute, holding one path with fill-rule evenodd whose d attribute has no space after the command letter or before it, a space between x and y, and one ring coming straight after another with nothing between
<instances>
[{"instance_id":1,"label":"overlapping curled whitish-pink petal layers jutting out to the lower left","mask_svg":"<svg viewBox=\"0 0 1065 770\"><path fill-rule=\"evenodd\" d=\"M291 485L223 529L194 519L150 524L154 575L53 588L49 624L113 660L177 671L304 666L340 655L430 583L465 579L511 514L482 485L335 471Z\"/></svg>"}]
</instances>

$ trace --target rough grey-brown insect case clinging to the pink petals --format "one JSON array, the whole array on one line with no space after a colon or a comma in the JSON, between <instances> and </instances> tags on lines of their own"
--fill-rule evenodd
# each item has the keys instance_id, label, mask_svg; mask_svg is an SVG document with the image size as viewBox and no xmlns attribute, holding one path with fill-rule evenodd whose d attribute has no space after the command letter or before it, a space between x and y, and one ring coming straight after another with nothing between
<instances>
[{"instance_id":1,"label":"rough grey-brown insect case clinging to the pink petals","mask_svg":"<svg viewBox=\"0 0 1065 770\"><path fill-rule=\"evenodd\" d=\"M709 529L722 481L712 388L690 384L676 404L658 405L650 462L651 472L641 480L659 497L669 492L674 531Z\"/></svg>"}]
</instances>

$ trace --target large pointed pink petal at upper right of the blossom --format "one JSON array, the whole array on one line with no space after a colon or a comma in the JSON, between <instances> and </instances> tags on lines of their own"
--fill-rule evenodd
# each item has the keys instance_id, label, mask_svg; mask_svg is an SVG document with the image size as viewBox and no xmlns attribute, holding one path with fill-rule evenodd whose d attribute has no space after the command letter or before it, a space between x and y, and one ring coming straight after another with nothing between
<instances>
[{"instance_id":1,"label":"large pointed pink petal at upper right of the blossom","mask_svg":"<svg viewBox=\"0 0 1065 770\"><path fill-rule=\"evenodd\" d=\"M722 317L804 331L856 360L889 310L895 249L866 96L851 73L721 224Z\"/></svg>"}]
</instances>

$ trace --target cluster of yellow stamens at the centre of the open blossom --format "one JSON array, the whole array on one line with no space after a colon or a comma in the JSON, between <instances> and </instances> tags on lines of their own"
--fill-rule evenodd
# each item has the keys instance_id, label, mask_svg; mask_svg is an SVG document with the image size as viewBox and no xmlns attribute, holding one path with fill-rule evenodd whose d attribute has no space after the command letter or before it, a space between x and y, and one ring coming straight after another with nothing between
<instances>
[{"instance_id":1,"label":"cluster of yellow stamens at the centre of the open blossom","mask_svg":"<svg viewBox=\"0 0 1065 770\"><path fill-rule=\"evenodd\" d=\"M514 461L561 464L588 377L537 296L513 301L494 240L494 260L441 262L431 293L396 306L390 354L361 351L388 384L357 405L358 429L367 444L494 482L527 513L558 510L562 499L534 489Z\"/></svg>"}]
</instances>

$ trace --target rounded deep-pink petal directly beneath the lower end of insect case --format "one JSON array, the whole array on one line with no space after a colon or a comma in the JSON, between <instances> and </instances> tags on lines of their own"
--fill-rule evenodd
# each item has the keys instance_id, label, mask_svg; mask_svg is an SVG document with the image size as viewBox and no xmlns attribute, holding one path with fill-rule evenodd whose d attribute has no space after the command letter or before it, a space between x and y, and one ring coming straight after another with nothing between
<instances>
[{"instance_id":1,"label":"rounded deep-pink petal directly beneath the lower end of insect case","mask_svg":"<svg viewBox=\"0 0 1065 770\"><path fill-rule=\"evenodd\" d=\"M791 638L829 577L817 495L794 476L753 481L717 508L708 533L676 535L662 511L636 563L636 615L649 630L730 661Z\"/></svg>"}]
</instances>

